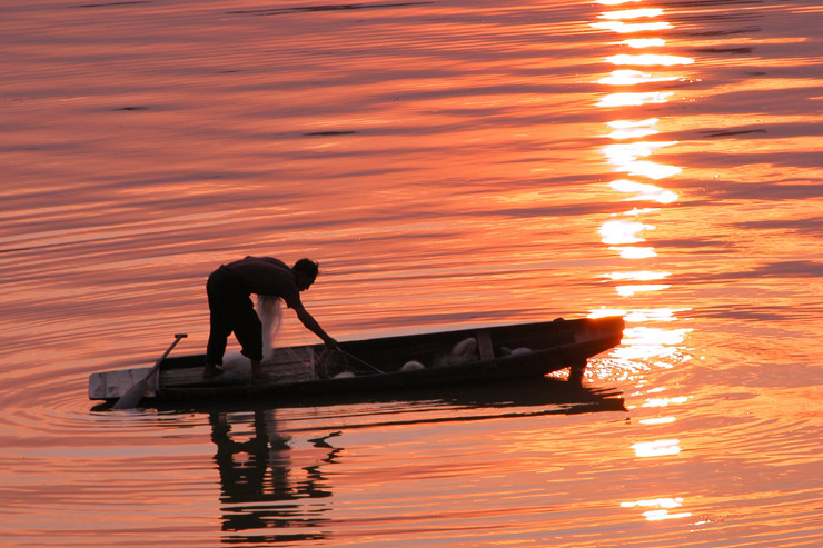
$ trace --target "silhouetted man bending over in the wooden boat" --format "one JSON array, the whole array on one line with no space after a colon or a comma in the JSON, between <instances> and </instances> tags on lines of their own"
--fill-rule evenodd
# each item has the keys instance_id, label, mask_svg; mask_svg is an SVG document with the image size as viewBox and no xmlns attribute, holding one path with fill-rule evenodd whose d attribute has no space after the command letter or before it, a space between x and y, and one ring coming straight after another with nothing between
<instances>
[{"instance_id":1,"label":"silhouetted man bending over in the wooden boat","mask_svg":"<svg viewBox=\"0 0 823 548\"><path fill-rule=\"evenodd\" d=\"M206 348L204 378L222 372L222 356L228 337L234 331L242 347L241 353L251 360L251 377L267 380L260 367L261 325L251 303L251 293L281 298L286 306L297 312L297 318L308 330L323 339L328 348L336 349L337 341L323 330L300 302L300 291L306 291L315 282L317 270L317 263L309 259L300 259L289 268L281 260L270 257L246 257L211 272L206 283L211 330Z\"/></svg>"}]
</instances>

